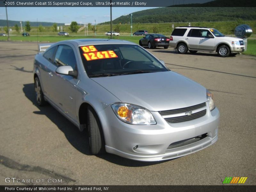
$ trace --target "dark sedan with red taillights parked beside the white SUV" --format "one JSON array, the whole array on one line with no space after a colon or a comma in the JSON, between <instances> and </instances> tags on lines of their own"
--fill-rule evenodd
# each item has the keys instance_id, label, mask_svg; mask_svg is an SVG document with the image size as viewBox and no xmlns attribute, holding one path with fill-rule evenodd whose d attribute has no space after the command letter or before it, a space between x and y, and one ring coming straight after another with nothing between
<instances>
[{"instance_id":1,"label":"dark sedan with red taillights parked beside the white SUV","mask_svg":"<svg viewBox=\"0 0 256 192\"><path fill-rule=\"evenodd\" d=\"M148 46L149 49L155 47L164 47L167 49L169 47L170 39L162 34L148 34L141 38L139 41L140 46Z\"/></svg>"}]
</instances>

